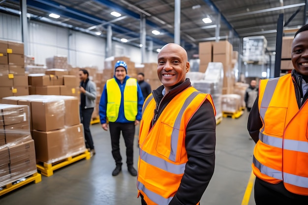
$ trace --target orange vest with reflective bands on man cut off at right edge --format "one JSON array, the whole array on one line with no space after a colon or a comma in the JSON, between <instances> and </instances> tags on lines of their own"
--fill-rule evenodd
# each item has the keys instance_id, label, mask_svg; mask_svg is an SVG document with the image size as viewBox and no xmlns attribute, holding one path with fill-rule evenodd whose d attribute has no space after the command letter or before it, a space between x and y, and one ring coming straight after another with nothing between
<instances>
[{"instance_id":1,"label":"orange vest with reflective bands on man cut off at right edge","mask_svg":"<svg viewBox=\"0 0 308 205\"><path fill-rule=\"evenodd\" d=\"M308 102L298 108L291 74L261 80L258 106L263 126L254 147L253 173L308 195Z\"/></svg>"}]
</instances>

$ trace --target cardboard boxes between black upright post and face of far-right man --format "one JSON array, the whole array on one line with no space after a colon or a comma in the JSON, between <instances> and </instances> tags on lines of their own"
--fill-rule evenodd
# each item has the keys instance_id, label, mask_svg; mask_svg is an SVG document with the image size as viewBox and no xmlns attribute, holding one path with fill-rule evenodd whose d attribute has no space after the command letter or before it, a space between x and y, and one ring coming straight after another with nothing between
<instances>
[{"instance_id":1,"label":"cardboard boxes between black upright post and face of far-right man","mask_svg":"<svg viewBox=\"0 0 308 205\"><path fill-rule=\"evenodd\" d=\"M294 37L287 37L287 36L282 37L280 70L293 69L293 64L291 60L293 38Z\"/></svg>"}]
</instances>

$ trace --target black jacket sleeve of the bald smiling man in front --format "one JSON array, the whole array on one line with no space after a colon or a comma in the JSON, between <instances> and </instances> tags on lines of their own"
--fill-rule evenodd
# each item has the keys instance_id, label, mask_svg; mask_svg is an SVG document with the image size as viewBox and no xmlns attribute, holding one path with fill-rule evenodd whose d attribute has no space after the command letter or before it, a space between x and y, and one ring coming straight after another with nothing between
<instances>
[{"instance_id":1,"label":"black jacket sleeve of the bald smiling man in front","mask_svg":"<svg viewBox=\"0 0 308 205\"><path fill-rule=\"evenodd\" d=\"M205 101L186 127L188 156L180 187L169 205L196 205L214 173L216 120L209 101Z\"/></svg>"}]
</instances>

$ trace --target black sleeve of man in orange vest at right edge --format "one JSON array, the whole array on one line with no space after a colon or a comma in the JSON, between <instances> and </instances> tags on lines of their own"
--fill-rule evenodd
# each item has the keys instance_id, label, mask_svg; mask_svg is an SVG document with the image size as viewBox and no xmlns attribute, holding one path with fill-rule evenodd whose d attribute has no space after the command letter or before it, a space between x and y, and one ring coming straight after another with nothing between
<instances>
[{"instance_id":1,"label":"black sleeve of man in orange vest at right edge","mask_svg":"<svg viewBox=\"0 0 308 205\"><path fill-rule=\"evenodd\" d=\"M258 108L258 100L259 96L257 96L253 103L247 122L249 135L255 143L257 143L259 140L259 130L263 126Z\"/></svg>"}]
</instances>

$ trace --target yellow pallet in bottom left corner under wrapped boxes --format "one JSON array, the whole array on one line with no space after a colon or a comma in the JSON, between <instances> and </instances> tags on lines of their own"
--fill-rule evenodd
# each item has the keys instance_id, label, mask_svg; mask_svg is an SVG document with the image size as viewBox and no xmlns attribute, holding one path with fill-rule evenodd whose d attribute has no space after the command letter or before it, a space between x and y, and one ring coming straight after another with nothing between
<instances>
[{"instance_id":1,"label":"yellow pallet in bottom left corner under wrapped boxes","mask_svg":"<svg viewBox=\"0 0 308 205\"><path fill-rule=\"evenodd\" d=\"M34 173L31 176L27 176L24 178L26 178L26 180L23 181L16 180L12 183L8 183L5 186L1 187L0 196L7 194L15 189L18 189L22 186L25 186L26 184L29 184L31 182L38 183L42 180L42 176L38 173ZM19 182L17 183L17 181Z\"/></svg>"}]
</instances>

